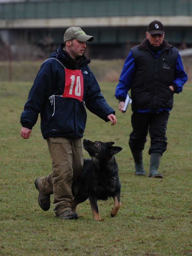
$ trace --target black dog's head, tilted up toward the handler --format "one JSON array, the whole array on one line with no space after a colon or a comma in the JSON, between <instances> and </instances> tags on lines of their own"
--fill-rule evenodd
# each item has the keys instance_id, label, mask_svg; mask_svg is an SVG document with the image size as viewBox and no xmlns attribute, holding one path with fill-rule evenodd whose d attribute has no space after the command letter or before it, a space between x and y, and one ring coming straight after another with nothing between
<instances>
[{"instance_id":1,"label":"black dog's head, tilted up toward the handler","mask_svg":"<svg viewBox=\"0 0 192 256\"><path fill-rule=\"evenodd\" d=\"M92 142L91 140L84 140L83 146L84 149L87 150L91 157L95 157L98 159L110 158L113 155L120 152L123 148L112 146L115 142L101 142L95 141Z\"/></svg>"}]
</instances>

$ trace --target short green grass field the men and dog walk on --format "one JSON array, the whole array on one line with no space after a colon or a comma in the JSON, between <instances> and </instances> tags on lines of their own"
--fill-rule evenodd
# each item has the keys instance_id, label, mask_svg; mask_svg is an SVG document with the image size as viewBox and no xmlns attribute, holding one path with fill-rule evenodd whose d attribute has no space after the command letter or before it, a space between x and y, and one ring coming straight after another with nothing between
<instances>
[{"instance_id":1,"label":"short green grass field the men and dog walk on","mask_svg":"<svg viewBox=\"0 0 192 256\"><path fill-rule=\"evenodd\" d=\"M20 137L20 114L32 83L0 83L0 255L19 256L182 256L192 255L192 86L174 97L168 122L163 179L136 177L128 146L131 108L122 114L114 97L116 83L101 83L117 124L110 126L88 112L84 138L114 141L122 185L122 206L110 218L113 200L99 201L94 221L89 201L77 207L78 220L54 217L38 205L34 180L51 172L51 159L40 120L29 140ZM149 168L149 138L143 153ZM89 157L84 150L84 157ZM53 198L51 197L51 203Z\"/></svg>"}]
</instances>

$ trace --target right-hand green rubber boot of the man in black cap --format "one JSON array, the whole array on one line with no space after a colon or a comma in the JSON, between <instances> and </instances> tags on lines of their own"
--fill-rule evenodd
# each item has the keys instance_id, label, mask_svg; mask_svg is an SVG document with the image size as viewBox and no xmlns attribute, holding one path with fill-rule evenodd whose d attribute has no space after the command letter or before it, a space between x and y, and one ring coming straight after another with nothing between
<instances>
[{"instance_id":1,"label":"right-hand green rubber boot of the man in black cap","mask_svg":"<svg viewBox=\"0 0 192 256\"><path fill-rule=\"evenodd\" d=\"M159 164L161 161L161 154L151 153L150 156L150 167L149 167L149 176L153 178L163 178L162 174L157 172L159 169Z\"/></svg>"}]
</instances>

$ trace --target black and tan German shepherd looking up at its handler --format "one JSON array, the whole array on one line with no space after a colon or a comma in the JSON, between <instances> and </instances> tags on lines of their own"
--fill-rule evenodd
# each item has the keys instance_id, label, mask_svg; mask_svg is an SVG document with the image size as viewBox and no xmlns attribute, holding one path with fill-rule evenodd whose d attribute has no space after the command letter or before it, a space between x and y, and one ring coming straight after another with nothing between
<instances>
[{"instance_id":1,"label":"black and tan German shepherd looking up at its handler","mask_svg":"<svg viewBox=\"0 0 192 256\"><path fill-rule=\"evenodd\" d=\"M114 155L122 148L112 146L113 144L112 141L83 141L84 149L87 150L91 159L84 159L83 171L73 181L74 200L71 203L73 212L76 212L78 204L89 198L94 220L102 220L97 200L107 200L109 197L113 197L115 201L111 210L111 217L114 217L119 211L121 184Z\"/></svg>"}]
</instances>

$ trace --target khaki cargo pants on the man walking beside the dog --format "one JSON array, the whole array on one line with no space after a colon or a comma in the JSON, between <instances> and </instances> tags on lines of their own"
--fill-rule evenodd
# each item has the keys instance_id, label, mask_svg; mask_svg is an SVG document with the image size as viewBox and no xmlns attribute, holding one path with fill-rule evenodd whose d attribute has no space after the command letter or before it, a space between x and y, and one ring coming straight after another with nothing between
<instances>
[{"instance_id":1,"label":"khaki cargo pants on the man walking beside the dog","mask_svg":"<svg viewBox=\"0 0 192 256\"><path fill-rule=\"evenodd\" d=\"M52 158L52 172L38 180L38 185L43 194L54 195L54 212L71 209L73 201L71 192L72 180L83 169L83 149L81 138L55 138L46 139Z\"/></svg>"}]
</instances>

